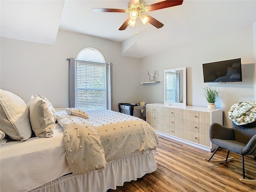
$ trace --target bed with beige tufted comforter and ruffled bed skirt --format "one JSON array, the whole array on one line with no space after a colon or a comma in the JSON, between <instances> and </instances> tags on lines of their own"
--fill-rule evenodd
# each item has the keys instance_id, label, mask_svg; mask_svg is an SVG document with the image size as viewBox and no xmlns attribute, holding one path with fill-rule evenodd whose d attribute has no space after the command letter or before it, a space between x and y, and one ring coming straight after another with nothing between
<instances>
[{"instance_id":1,"label":"bed with beige tufted comforter and ruffled bed skirt","mask_svg":"<svg viewBox=\"0 0 256 192\"><path fill-rule=\"evenodd\" d=\"M43 102L53 110L49 101ZM31 113L32 104L27 106ZM6 112L3 108L1 114ZM38 132L42 137L33 137L36 131L32 129L32 136L25 134L22 142L11 139L1 145L1 192L106 192L156 170L152 150L156 149L158 135L147 122L110 110L79 110L86 116L77 114L77 110L55 111L55 116L50 113L54 129L46 123L46 133ZM34 113L29 115L31 126Z\"/></svg>"}]
</instances>

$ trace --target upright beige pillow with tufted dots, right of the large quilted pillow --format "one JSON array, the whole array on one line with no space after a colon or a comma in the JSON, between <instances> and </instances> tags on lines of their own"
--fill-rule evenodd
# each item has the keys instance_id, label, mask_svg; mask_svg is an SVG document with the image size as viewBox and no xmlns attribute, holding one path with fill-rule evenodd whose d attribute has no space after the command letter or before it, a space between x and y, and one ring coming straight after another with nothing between
<instances>
[{"instance_id":1,"label":"upright beige pillow with tufted dots, right of the large quilted pillow","mask_svg":"<svg viewBox=\"0 0 256 192\"><path fill-rule=\"evenodd\" d=\"M52 137L55 120L48 102L39 96L28 102L30 124L37 137Z\"/></svg>"}]
</instances>

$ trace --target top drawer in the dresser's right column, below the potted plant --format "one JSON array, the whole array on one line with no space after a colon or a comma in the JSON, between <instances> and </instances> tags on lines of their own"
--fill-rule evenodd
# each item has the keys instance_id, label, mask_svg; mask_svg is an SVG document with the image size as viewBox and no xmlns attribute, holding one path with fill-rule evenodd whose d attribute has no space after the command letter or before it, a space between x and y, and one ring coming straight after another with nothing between
<instances>
[{"instance_id":1,"label":"top drawer in the dresser's right column, below the potted plant","mask_svg":"<svg viewBox=\"0 0 256 192\"><path fill-rule=\"evenodd\" d=\"M210 124L211 122L210 113L208 112L183 110L183 118L185 120L206 123L206 124Z\"/></svg>"}]
</instances>

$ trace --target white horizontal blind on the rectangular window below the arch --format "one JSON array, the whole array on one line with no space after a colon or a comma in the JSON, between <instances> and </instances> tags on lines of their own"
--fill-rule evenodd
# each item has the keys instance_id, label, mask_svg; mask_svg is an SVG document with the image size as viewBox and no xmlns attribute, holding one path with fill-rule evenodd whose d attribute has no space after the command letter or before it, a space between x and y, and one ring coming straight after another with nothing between
<instances>
[{"instance_id":1,"label":"white horizontal blind on the rectangular window below the arch","mask_svg":"<svg viewBox=\"0 0 256 192\"><path fill-rule=\"evenodd\" d=\"M82 110L107 108L107 64L77 62L76 106Z\"/></svg>"}]
</instances>

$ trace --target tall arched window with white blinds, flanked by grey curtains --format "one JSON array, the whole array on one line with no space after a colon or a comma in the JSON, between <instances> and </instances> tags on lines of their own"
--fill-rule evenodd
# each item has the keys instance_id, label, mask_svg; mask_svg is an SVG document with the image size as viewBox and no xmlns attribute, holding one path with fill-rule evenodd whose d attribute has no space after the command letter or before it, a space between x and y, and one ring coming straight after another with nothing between
<instances>
[{"instance_id":1,"label":"tall arched window with white blinds, flanked by grey curtains","mask_svg":"<svg viewBox=\"0 0 256 192\"><path fill-rule=\"evenodd\" d=\"M84 48L78 53L75 66L75 102L70 107L111 110L112 63L106 64L100 51Z\"/></svg>"}]
</instances>

